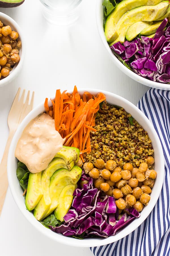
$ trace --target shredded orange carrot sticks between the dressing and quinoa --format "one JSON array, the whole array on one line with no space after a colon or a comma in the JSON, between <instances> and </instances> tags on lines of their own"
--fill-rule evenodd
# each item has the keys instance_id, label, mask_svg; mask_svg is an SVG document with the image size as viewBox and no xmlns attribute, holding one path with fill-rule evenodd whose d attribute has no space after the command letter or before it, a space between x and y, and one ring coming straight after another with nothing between
<instances>
[{"instance_id":1,"label":"shredded orange carrot sticks between the dressing and quinoa","mask_svg":"<svg viewBox=\"0 0 170 256\"><path fill-rule=\"evenodd\" d=\"M73 93L56 90L52 106L48 106L48 98L45 99L46 113L54 118L56 130L65 138L65 146L74 146L80 149L80 158L84 162L83 154L91 152L90 132L96 132L95 118L99 111L99 104L105 101L105 95L97 96L84 92L82 96L74 87Z\"/></svg>"}]
</instances>

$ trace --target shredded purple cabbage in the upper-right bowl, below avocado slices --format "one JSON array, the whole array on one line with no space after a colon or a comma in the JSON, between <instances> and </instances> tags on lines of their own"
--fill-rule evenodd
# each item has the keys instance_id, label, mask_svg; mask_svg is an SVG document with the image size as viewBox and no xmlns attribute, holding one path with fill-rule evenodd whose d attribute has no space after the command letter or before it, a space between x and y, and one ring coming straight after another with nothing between
<instances>
[{"instance_id":1,"label":"shredded purple cabbage in the upper-right bowl, below avocado slices","mask_svg":"<svg viewBox=\"0 0 170 256\"><path fill-rule=\"evenodd\" d=\"M165 18L154 38L141 36L123 44L117 42L112 51L120 55L122 62L136 74L161 83L170 82L170 26Z\"/></svg>"}]
</instances>

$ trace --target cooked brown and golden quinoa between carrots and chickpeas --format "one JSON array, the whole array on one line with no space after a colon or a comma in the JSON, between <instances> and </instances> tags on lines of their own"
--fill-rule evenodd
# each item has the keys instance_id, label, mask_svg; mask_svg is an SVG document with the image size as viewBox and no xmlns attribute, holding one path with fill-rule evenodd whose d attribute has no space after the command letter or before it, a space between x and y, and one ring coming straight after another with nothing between
<instances>
[{"instance_id":1,"label":"cooked brown and golden quinoa between carrots and chickpeas","mask_svg":"<svg viewBox=\"0 0 170 256\"><path fill-rule=\"evenodd\" d=\"M84 153L85 161L94 163L97 158L105 162L112 159L118 166L130 162L133 167L139 167L147 156L153 156L154 150L148 133L124 108L105 102L95 122L94 128L97 131L90 133L92 152Z\"/></svg>"}]
</instances>

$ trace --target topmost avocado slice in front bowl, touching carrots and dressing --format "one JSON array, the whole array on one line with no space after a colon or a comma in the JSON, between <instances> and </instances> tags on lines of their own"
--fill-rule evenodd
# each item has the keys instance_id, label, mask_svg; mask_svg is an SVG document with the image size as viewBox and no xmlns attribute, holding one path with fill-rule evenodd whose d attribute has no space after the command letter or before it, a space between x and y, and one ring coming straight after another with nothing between
<instances>
[{"instance_id":1,"label":"topmost avocado slice in front bowl, touching carrots and dressing","mask_svg":"<svg viewBox=\"0 0 170 256\"><path fill-rule=\"evenodd\" d=\"M55 157L62 158L67 164L68 169L71 170L76 162L78 162L79 155L80 150L78 148L63 146Z\"/></svg>"}]
</instances>

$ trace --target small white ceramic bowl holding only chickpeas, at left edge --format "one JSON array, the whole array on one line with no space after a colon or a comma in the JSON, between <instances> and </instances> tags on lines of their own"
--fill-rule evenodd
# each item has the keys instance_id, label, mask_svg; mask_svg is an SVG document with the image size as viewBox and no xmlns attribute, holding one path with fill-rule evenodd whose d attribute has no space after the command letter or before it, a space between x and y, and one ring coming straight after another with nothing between
<instances>
[{"instance_id":1,"label":"small white ceramic bowl holding only chickpeas, at left edge","mask_svg":"<svg viewBox=\"0 0 170 256\"><path fill-rule=\"evenodd\" d=\"M8 82L11 82L14 78L17 77L18 73L21 71L23 66L23 61L25 57L25 40L23 37L22 30L20 26L16 23L15 20L13 20L10 16L6 15L5 13L0 12L0 20L3 22L4 25L9 25L12 30L18 32L22 47L20 49L19 55L20 55L20 61L14 65L13 69L10 71L8 77L5 77L0 80L0 87L4 86Z\"/></svg>"}]
</instances>

